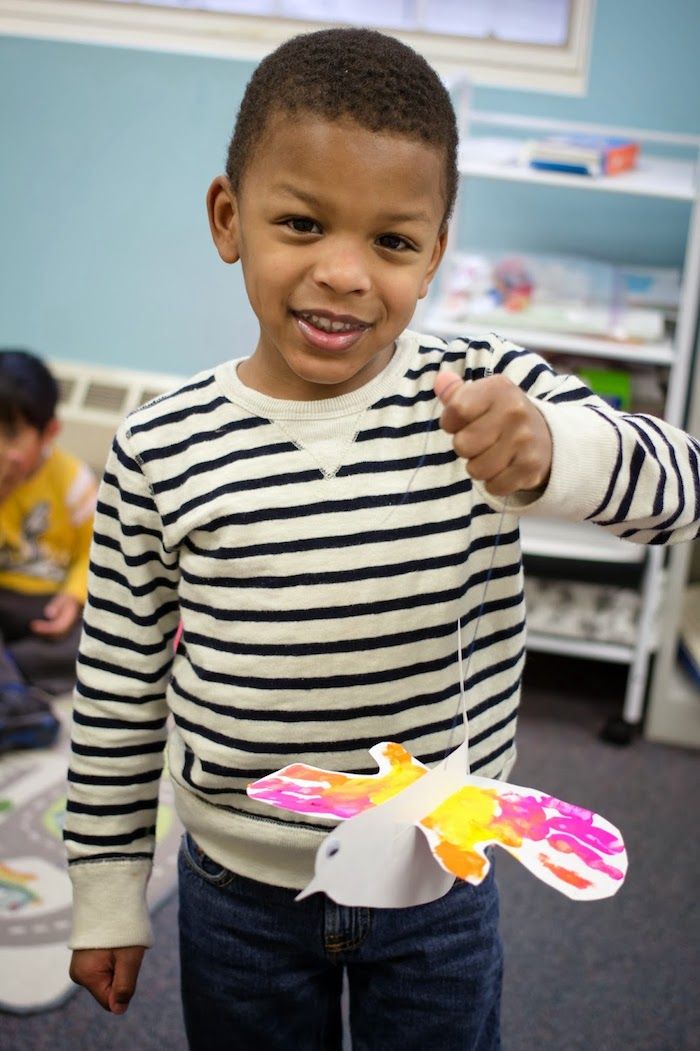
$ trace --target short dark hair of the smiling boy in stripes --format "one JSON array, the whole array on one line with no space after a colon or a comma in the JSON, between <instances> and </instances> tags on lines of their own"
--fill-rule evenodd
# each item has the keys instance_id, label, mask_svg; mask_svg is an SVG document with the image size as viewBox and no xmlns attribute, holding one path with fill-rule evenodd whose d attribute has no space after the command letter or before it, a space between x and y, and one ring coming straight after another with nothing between
<instances>
[{"instance_id":1,"label":"short dark hair of the smiling boy in stripes","mask_svg":"<svg viewBox=\"0 0 700 1051\"><path fill-rule=\"evenodd\" d=\"M321 29L286 41L246 87L228 147L234 190L272 114L349 118L370 131L417 139L445 154L445 220L457 190L457 126L449 92L407 44L374 29Z\"/></svg>"}]
</instances>

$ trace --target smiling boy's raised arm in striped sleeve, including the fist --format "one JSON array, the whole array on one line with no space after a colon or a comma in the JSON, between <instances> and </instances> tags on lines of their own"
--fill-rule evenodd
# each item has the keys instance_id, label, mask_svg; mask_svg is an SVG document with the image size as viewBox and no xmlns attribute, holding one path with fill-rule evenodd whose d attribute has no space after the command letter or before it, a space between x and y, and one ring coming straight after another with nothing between
<instances>
[{"instance_id":1,"label":"smiling boy's raised arm in striped sleeve, including the fist","mask_svg":"<svg viewBox=\"0 0 700 1051\"><path fill-rule=\"evenodd\" d=\"M449 344L435 392L440 424L494 510L507 498L514 514L591 521L635 543L700 535L700 442L679 428L613 409L495 335Z\"/></svg>"}]
</instances>

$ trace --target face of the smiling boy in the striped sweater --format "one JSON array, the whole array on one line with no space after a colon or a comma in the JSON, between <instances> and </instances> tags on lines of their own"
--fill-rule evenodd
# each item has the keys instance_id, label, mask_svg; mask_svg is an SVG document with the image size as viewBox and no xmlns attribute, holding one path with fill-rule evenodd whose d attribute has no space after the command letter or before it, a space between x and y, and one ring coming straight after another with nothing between
<instances>
[{"instance_id":1,"label":"face of the smiling boy in the striped sweater","mask_svg":"<svg viewBox=\"0 0 700 1051\"><path fill-rule=\"evenodd\" d=\"M209 190L212 235L241 260L260 322L240 368L295 400L356 390L388 364L446 245L441 153L310 114L271 118L234 194Z\"/></svg>"}]
</instances>

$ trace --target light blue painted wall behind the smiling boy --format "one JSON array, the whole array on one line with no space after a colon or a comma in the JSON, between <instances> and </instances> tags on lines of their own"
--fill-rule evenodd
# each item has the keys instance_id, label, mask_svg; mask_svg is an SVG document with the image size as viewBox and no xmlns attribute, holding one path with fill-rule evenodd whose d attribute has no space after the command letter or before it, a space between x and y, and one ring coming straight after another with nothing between
<instances>
[{"instance_id":1,"label":"light blue painted wall behind the smiling boy","mask_svg":"<svg viewBox=\"0 0 700 1051\"><path fill-rule=\"evenodd\" d=\"M480 88L479 108L700 132L697 0L598 0L585 98ZM209 241L252 64L0 39L0 345L189 374L254 346L240 271ZM589 200L589 199L595 200ZM686 207L475 183L483 246L678 264Z\"/></svg>"}]
</instances>

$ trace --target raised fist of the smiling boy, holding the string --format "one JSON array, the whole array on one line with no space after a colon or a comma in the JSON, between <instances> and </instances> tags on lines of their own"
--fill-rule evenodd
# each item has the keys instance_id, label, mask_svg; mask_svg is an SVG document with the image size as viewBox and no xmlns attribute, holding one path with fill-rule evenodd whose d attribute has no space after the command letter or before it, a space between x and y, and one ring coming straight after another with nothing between
<instances>
[{"instance_id":1,"label":"raised fist of the smiling boy, holding the string","mask_svg":"<svg viewBox=\"0 0 700 1051\"><path fill-rule=\"evenodd\" d=\"M542 490L552 468L552 436L544 417L506 376L464 383L439 372L435 393L445 405L440 427L467 460L472 478L494 496Z\"/></svg>"}]
</instances>

